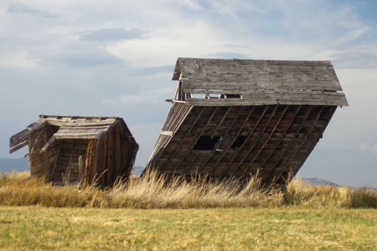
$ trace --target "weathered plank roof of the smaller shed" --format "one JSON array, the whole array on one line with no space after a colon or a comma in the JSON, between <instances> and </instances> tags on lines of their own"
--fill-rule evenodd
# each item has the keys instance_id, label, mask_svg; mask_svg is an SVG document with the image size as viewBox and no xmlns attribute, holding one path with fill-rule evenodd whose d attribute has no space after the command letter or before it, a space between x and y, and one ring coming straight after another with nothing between
<instances>
[{"instance_id":1,"label":"weathered plank roof of the smaller shed","mask_svg":"<svg viewBox=\"0 0 377 251\"><path fill-rule=\"evenodd\" d=\"M47 149L56 139L99 139L106 134L117 123L122 123L126 131L130 134L127 125L120 117L82 117L82 116L56 116L40 115L40 119L10 138L10 153L21 149L26 145L27 137L33 132L40 130L45 125L58 126L58 131L53 134L42 150ZM134 141L134 139L132 138Z\"/></svg>"}]
</instances>

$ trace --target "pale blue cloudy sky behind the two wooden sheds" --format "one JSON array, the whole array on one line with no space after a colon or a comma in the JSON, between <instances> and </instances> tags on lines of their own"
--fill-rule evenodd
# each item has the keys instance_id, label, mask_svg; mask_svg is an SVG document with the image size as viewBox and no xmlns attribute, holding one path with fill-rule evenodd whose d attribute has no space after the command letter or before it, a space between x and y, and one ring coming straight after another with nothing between
<instances>
[{"instance_id":1,"label":"pale blue cloudy sky behind the two wooden sheds","mask_svg":"<svg viewBox=\"0 0 377 251\"><path fill-rule=\"evenodd\" d=\"M377 1L0 0L0 158L38 115L123 117L147 163L178 57L331 60L348 99L302 178L377 187Z\"/></svg>"}]
</instances>

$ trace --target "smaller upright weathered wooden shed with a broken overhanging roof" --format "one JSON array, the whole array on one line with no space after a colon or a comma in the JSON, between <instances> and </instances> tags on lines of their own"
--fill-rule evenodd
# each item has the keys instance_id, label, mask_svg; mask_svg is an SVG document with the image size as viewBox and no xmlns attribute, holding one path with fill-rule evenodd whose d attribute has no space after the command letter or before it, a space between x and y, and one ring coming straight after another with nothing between
<instances>
[{"instance_id":1,"label":"smaller upright weathered wooden shed with a broken overhanging roof","mask_svg":"<svg viewBox=\"0 0 377 251\"><path fill-rule=\"evenodd\" d=\"M32 176L45 176L53 184L97 181L104 187L130 176L138 151L119 117L40 115L10 138L10 153L25 145Z\"/></svg>"}]
</instances>

